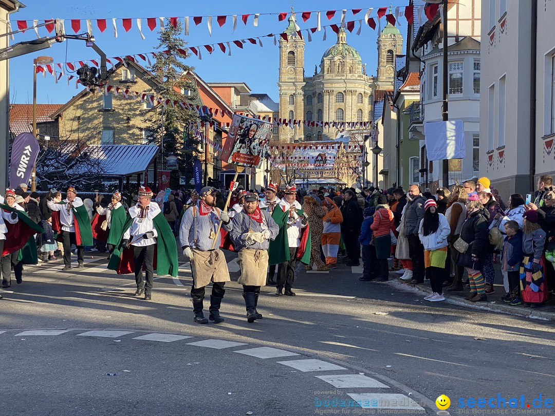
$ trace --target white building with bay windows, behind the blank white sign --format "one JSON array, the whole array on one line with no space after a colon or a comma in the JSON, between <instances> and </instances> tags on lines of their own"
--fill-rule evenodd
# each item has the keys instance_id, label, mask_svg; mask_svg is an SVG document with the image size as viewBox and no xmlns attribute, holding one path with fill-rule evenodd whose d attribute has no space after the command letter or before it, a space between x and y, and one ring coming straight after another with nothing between
<instances>
[{"instance_id":1,"label":"white building with bay windows, behind the blank white sign","mask_svg":"<svg viewBox=\"0 0 555 416\"><path fill-rule=\"evenodd\" d=\"M478 175L480 144L480 0L452 0L447 9L448 117L462 120L466 157L449 161L450 185ZM440 11L418 31L413 51L422 59L420 97L421 118L410 126L413 139L420 140L420 166L426 169L421 184L432 192L442 186L442 161L428 161L423 124L442 120L443 24ZM427 175L427 181L426 181Z\"/></svg>"}]
</instances>

